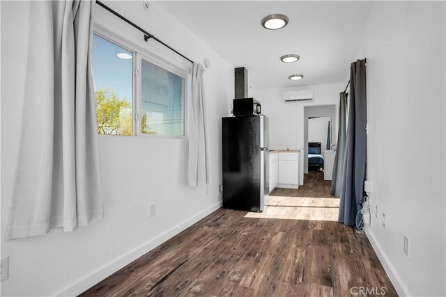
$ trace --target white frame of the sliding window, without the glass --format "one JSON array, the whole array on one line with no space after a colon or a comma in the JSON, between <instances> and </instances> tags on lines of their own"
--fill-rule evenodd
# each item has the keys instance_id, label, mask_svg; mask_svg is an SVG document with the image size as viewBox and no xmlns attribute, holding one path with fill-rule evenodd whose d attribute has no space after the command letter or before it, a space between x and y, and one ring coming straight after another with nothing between
<instances>
[{"instance_id":1,"label":"white frame of the sliding window, without the glass","mask_svg":"<svg viewBox=\"0 0 446 297\"><path fill-rule=\"evenodd\" d=\"M158 139L187 139L187 131L189 122L187 120L188 115L188 102L190 97L190 81L191 74L190 69L185 69L174 63L167 61L167 59L157 56L153 52L148 49L144 49L137 45L136 43L123 38L121 35L109 31L102 26L98 26L95 24L93 29L93 34L98 35L100 38L107 40L108 42L117 45L118 47L122 47L125 50L132 52L132 125L133 125L133 134L130 135L107 135L107 134L98 134L100 137L105 136L113 136L113 137L125 137L125 138L158 138ZM169 54L175 54L174 52ZM178 75L178 77L183 78L183 135L158 135L158 134L144 134L141 131L141 106L142 106L142 61L145 60L148 63L152 63L158 67L161 67L163 70L171 72L173 74ZM192 67L192 66L191 66Z\"/></svg>"}]
</instances>

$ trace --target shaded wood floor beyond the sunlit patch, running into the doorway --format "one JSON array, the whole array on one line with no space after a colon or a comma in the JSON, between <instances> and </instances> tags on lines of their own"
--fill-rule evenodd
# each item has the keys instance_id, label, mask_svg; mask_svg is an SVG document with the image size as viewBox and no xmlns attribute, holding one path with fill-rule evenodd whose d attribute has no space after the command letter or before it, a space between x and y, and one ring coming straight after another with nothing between
<instances>
[{"instance_id":1,"label":"shaded wood floor beyond the sunlit patch, running into the doorway","mask_svg":"<svg viewBox=\"0 0 446 297\"><path fill-rule=\"evenodd\" d=\"M332 182L323 179L323 171L309 170L304 175L304 184L299 188L275 188L270 196L335 198L330 193Z\"/></svg>"}]
</instances>

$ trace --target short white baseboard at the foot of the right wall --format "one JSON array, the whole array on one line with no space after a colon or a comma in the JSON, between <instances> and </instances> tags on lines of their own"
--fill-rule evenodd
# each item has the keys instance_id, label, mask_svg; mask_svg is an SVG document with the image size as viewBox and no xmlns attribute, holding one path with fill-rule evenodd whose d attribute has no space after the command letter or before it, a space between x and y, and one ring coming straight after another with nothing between
<instances>
[{"instance_id":1,"label":"short white baseboard at the foot of the right wall","mask_svg":"<svg viewBox=\"0 0 446 297\"><path fill-rule=\"evenodd\" d=\"M401 280L401 277L397 273L397 270L392 266L392 263L390 262L387 255L385 255L385 252L383 252L383 249L381 248L380 244L376 240L376 237L368 228L366 228L366 234L367 238L369 239L372 248L374 248L374 251L376 252L376 255L378 256L379 261L383 265L385 273L387 273L387 276L390 279L390 282L392 282L393 287L398 293L398 296L412 296L407 287L404 285L403 281Z\"/></svg>"}]
</instances>

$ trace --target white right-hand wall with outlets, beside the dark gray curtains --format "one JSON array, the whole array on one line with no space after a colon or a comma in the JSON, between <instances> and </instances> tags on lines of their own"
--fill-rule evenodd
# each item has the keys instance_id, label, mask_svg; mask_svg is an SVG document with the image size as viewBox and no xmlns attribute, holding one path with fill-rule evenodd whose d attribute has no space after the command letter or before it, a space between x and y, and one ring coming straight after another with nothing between
<instances>
[{"instance_id":1,"label":"white right-hand wall with outlets, beside the dark gray curtains","mask_svg":"<svg viewBox=\"0 0 446 297\"><path fill-rule=\"evenodd\" d=\"M357 57L367 57L367 234L399 294L445 296L445 2L374 2Z\"/></svg>"}]
</instances>

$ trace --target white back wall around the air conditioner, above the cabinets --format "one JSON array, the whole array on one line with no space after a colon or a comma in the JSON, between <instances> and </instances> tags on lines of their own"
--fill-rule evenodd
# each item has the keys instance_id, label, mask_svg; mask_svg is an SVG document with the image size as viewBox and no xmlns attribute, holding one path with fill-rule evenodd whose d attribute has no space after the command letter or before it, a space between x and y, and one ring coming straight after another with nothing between
<instances>
[{"instance_id":1,"label":"white back wall around the air conditioner, above the cabinets","mask_svg":"<svg viewBox=\"0 0 446 297\"><path fill-rule=\"evenodd\" d=\"M348 67L348 66L347 66ZM260 89L252 88L250 95L262 104L262 113L270 119L270 148L304 150L304 107L339 106L339 93L344 91L346 83L329 85L299 86L294 88ZM283 94L286 90L314 90L314 99L310 102L285 103ZM337 121L334 123L334 135L337 135ZM304 182L304 154L300 154L300 184Z\"/></svg>"}]
</instances>

